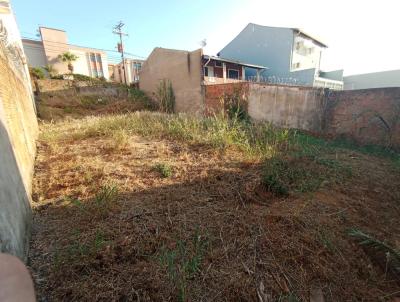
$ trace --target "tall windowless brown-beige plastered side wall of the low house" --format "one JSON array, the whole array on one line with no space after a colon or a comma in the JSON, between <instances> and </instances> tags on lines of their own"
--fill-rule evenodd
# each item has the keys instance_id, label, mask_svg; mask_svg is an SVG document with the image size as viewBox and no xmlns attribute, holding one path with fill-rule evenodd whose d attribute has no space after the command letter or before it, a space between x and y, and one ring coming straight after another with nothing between
<instances>
[{"instance_id":1,"label":"tall windowless brown-beige plastered side wall of the low house","mask_svg":"<svg viewBox=\"0 0 400 302\"><path fill-rule=\"evenodd\" d=\"M203 113L202 50L192 52L155 48L140 72L140 89L153 99L159 82L169 79L175 93L176 111Z\"/></svg>"}]
</instances>

